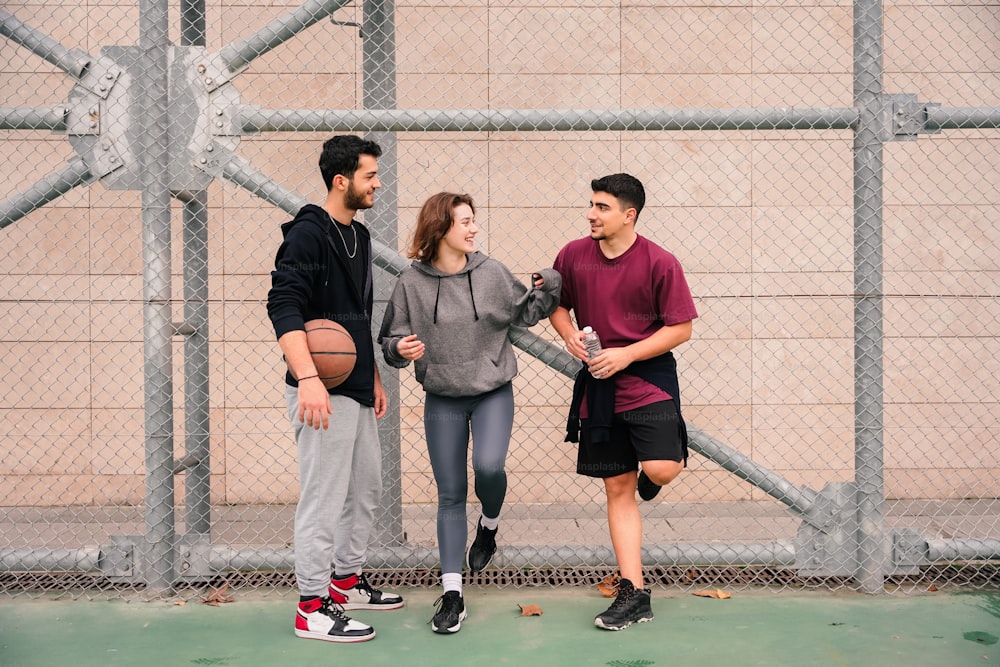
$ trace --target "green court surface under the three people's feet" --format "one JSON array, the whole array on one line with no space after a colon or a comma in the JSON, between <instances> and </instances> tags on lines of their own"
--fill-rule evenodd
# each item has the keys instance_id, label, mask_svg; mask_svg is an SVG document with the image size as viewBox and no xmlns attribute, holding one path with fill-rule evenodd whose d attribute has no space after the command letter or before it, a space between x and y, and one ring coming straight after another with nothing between
<instances>
[{"instance_id":1,"label":"green court surface under the three people's feet","mask_svg":"<svg viewBox=\"0 0 1000 667\"><path fill-rule=\"evenodd\" d=\"M399 590L398 611L355 611L374 640L334 644L292 633L296 596L197 600L0 600L0 665L996 665L1000 593L734 591L728 600L653 590L656 618L600 630L596 589L467 588L469 618L431 632L437 590ZM541 616L522 616L519 605Z\"/></svg>"}]
</instances>

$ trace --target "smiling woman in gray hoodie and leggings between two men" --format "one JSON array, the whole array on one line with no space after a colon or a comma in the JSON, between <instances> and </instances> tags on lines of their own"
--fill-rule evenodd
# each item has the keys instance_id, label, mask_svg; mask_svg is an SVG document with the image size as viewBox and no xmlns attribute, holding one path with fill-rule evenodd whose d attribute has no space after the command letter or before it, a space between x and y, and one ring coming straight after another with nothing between
<instances>
[{"instance_id":1,"label":"smiling woman in gray hoodie and leggings between two men","mask_svg":"<svg viewBox=\"0 0 1000 667\"><path fill-rule=\"evenodd\" d=\"M424 202L379 333L385 360L415 362L427 392L424 432L438 487L437 533L443 595L431 629L458 632L467 612L462 560L468 537L466 459L482 516L469 548L469 570L485 568L496 551L507 493L504 463L514 424L511 380L517 375L511 326L528 327L559 305L561 280L552 269L533 274L528 289L500 262L475 251L476 207L468 195L441 192Z\"/></svg>"}]
</instances>

